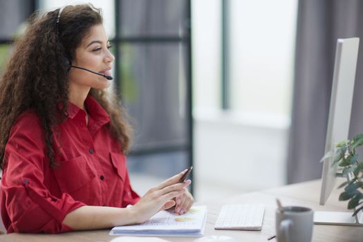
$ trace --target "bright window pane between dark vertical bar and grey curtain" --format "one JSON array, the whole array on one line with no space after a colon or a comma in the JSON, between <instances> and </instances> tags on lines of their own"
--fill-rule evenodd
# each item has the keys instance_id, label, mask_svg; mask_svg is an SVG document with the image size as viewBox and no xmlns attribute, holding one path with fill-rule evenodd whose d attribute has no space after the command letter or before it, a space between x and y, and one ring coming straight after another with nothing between
<instances>
[{"instance_id":1,"label":"bright window pane between dark vertical bar and grey curtain","mask_svg":"<svg viewBox=\"0 0 363 242\"><path fill-rule=\"evenodd\" d=\"M297 1L230 1L232 110L289 115Z\"/></svg>"}]
</instances>

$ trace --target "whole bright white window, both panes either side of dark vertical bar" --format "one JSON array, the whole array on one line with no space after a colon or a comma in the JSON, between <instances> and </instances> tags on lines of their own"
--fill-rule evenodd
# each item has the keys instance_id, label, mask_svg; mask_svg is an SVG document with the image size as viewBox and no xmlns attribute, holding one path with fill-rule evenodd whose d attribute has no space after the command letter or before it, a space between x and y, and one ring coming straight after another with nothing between
<instances>
[{"instance_id":1,"label":"whole bright white window, both panes either side of dark vertical bar","mask_svg":"<svg viewBox=\"0 0 363 242\"><path fill-rule=\"evenodd\" d=\"M297 1L201 0L192 10L196 113L220 110L225 98L236 113L289 116Z\"/></svg>"}]
</instances>

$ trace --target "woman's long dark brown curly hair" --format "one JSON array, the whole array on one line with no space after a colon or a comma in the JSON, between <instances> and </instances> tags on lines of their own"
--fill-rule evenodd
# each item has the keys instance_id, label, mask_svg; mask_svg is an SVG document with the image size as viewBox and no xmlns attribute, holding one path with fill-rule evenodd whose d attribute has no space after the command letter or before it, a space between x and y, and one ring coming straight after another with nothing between
<instances>
[{"instance_id":1,"label":"woman's long dark brown curly hair","mask_svg":"<svg viewBox=\"0 0 363 242\"><path fill-rule=\"evenodd\" d=\"M67 118L68 69L66 59L75 57L75 50L89 30L102 24L100 9L91 4L67 6L39 15L33 13L24 35L15 41L15 50L0 81L0 168L5 163L5 147L10 129L17 117L29 109L39 116L50 165L55 165L53 131ZM127 153L131 126L115 95L91 89L97 102L110 115L110 131Z\"/></svg>"}]
</instances>

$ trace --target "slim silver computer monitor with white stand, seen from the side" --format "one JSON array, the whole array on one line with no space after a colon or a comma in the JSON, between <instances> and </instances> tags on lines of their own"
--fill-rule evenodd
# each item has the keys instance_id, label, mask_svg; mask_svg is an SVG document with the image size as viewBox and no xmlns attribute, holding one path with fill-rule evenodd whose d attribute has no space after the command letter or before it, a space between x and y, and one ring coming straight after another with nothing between
<instances>
[{"instance_id":1,"label":"slim silver computer monitor with white stand, seen from the side","mask_svg":"<svg viewBox=\"0 0 363 242\"><path fill-rule=\"evenodd\" d=\"M337 39L331 104L329 109L328 129L326 132L325 153L334 153L335 144L348 139L351 121L351 106L355 81L355 68L359 38ZM322 171L322 190L320 205L324 205L335 188L337 168L332 166L333 158L324 160ZM362 213L352 216L353 212L315 212L315 224L362 225Z\"/></svg>"}]
</instances>

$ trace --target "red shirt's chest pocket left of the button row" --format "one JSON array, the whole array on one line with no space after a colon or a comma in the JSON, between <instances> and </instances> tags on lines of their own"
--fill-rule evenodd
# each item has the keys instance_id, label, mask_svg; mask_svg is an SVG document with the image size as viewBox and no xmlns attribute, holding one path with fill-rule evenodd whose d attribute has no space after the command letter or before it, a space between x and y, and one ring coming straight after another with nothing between
<instances>
[{"instance_id":1,"label":"red shirt's chest pocket left of the button row","mask_svg":"<svg viewBox=\"0 0 363 242\"><path fill-rule=\"evenodd\" d=\"M95 178L95 174L84 156L59 162L59 165L53 171L62 192L72 194L84 187L84 191L78 191L77 194L82 194L82 196L89 194L87 188L90 187L89 184Z\"/></svg>"}]
</instances>

